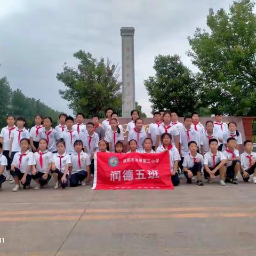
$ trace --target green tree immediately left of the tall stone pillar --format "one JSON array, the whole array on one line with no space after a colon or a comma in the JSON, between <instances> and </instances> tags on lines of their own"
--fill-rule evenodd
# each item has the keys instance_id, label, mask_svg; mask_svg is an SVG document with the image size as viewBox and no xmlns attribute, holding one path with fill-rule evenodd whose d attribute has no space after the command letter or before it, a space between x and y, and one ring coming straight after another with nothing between
<instances>
[{"instance_id":1,"label":"green tree immediately left of the tall stone pillar","mask_svg":"<svg viewBox=\"0 0 256 256\"><path fill-rule=\"evenodd\" d=\"M67 87L60 90L61 97L69 101L69 108L74 114L82 112L86 117L98 113L105 117L104 110L112 107L118 114L122 111L121 82L119 68L109 60L99 61L91 53L80 50L74 53L79 61L77 68L68 67L65 63L63 72L57 79Z\"/></svg>"}]
</instances>

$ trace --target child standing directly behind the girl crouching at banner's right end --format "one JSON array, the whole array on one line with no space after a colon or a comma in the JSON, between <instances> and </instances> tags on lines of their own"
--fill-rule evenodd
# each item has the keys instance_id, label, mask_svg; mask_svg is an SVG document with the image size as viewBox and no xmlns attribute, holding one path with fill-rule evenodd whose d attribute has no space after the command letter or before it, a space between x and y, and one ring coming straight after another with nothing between
<instances>
[{"instance_id":1,"label":"child standing directly behind the girl crouching at banner's right end","mask_svg":"<svg viewBox=\"0 0 256 256\"><path fill-rule=\"evenodd\" d=\"M166 111L163 115L163 123L159 126L156 135L156 147L161 146L160 137L163 133L170 133L172 135L172 145L179 148L179 130L172 125L171 112Z\"/></svg>"}]
</instances>

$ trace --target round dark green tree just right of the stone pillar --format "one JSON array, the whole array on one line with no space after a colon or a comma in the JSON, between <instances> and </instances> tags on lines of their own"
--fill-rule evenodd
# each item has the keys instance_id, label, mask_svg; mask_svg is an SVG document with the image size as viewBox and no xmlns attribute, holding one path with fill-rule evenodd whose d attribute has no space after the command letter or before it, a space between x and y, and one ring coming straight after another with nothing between
<instances>
[{"instance_id":1,"label":"round dark green tree just right of the stone pillar","mask_svg":"<svg viewBox=\"0 0 256 256\"><path fill-rule=\"evenodd\" d=\"M193 73L179 55L155 57L156 75L144 81L153 111L171 109L185 115L199 106L198 86Z\"/></svg>"}]
</instances>

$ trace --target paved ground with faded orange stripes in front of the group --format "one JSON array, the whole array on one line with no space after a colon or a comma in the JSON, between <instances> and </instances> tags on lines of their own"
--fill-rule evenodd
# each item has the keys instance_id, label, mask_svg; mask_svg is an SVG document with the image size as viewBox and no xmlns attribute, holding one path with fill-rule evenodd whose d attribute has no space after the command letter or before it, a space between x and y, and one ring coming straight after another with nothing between
<instances>
[{"instance_id":1,"label":"paved ground with faded orange stripes in front of the group","mask_svg":"<svg viewBox=\"0 0 256 256\"><path fill-rule=\"evenodd\" d=\"M34 184L33 184L34 185ZM0 191L1 256L255 255L256 186Z\"/></svg>"}]
</instances>

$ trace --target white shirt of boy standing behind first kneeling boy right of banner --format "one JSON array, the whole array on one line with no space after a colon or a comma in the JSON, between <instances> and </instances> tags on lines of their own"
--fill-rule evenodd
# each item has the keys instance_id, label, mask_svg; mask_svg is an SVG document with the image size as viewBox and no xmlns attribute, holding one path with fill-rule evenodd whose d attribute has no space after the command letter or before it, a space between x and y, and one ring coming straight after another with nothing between
<instances>
[{"instance_id":1,"label":"white shirt of boy standing behind first kneeling boy right of banner","mask_svg":"<svg viewBox=\"0 0 256 256\"><path fill-rule=\"evenodd\" d=\"M189 137L188 137L188 133L189 133ZM197 146L199 147L201 144L201 133L196 131L193 128L190 128L190 130L187 130L185 127L183 127L180 130L180 144L181 144L182 157L185 157L189 153L189 149L188 149L189 141L195 141Z\"/></svg>"}]
</instances>

